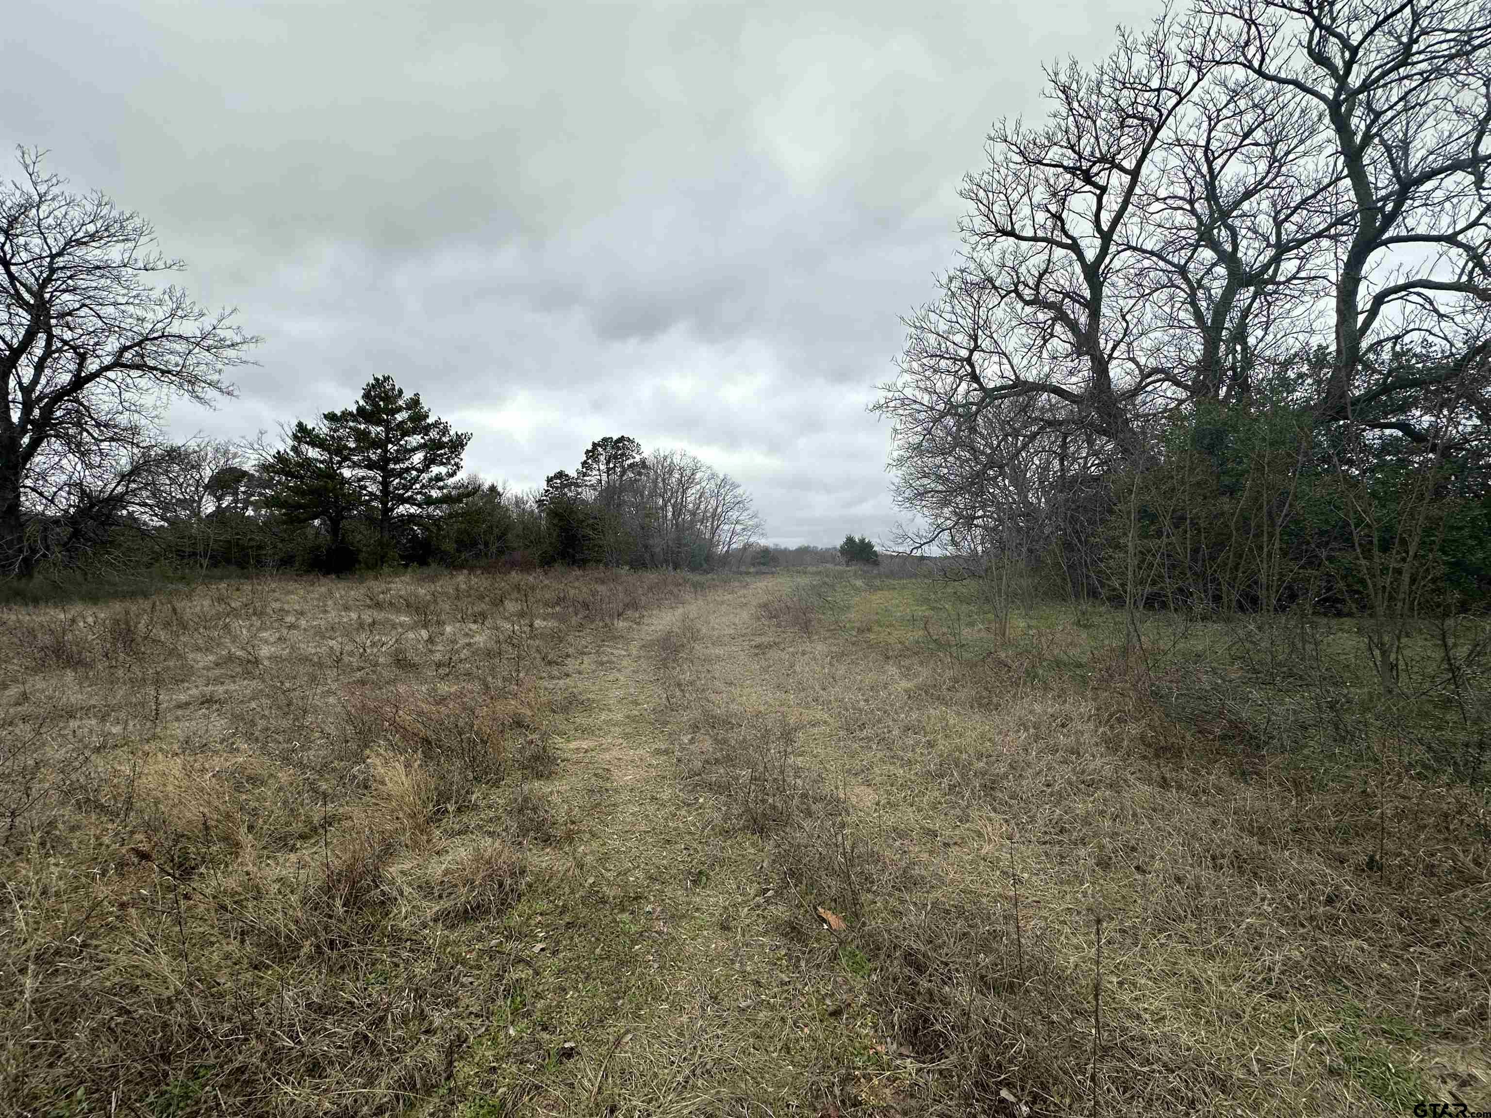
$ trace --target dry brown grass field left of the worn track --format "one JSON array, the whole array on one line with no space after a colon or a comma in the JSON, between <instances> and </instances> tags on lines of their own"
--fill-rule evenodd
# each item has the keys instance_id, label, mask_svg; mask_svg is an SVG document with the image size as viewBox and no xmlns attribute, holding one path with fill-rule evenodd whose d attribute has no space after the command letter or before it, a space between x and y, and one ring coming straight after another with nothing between
<instances>
[{"instance_id":1,"label":"dry brown grass field left of the worn track","mask_svg":"<svg viewBox=\"0 0 1491 1118\"><path fill-rule=\"evenodd\" d=\"M577 644L702 586L277 578L0 608L0 1109L370 1114L499 999ZM462 836L491 803L514 842ZM510 811L508 811L510 805Z\"/></svg>"}]
</instances>

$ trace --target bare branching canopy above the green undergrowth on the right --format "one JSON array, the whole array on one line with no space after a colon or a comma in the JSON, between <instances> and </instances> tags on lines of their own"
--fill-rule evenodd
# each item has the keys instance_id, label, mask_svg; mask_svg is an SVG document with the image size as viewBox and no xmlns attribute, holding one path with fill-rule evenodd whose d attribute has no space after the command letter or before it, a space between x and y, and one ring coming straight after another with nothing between
<instances>
[{"instance_id":1,"label":"bare branching canopy above the green undergrowth on the right","mask_svg":"<svg viewBox=\"0 0 1491 1118\"><path fill-rule=\"evenodd\" d=\"M1484 0L1199 0L1048 69L1047 100L994 125L874 405L908 543L1030 523L1260 395L1452 459L1481 440Z\"/></svg>"}]
</instances>

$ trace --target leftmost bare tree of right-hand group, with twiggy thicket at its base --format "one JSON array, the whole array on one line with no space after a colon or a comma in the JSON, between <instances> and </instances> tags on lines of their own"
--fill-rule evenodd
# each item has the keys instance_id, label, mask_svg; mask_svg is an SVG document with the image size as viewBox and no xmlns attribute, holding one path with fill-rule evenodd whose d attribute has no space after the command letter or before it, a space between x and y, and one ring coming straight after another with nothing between
<instances>
[{"instance_id":1,"label":"leftmost bare tree of right-hand group, with twiggy thicket at its base","mask_svg":"<svg viewBox=\"0 0 1491 1118\"><path fill-rule=\"evenodd\" d=\"M1145 453L1148 413L1194 391L1179 355L1194 338L1176 338L1166 303L1215 297L1159 265L1176 222L1157 182L1205 79L1176 36L1166 13L1091 70L1048 69L1045 122L1000 122L965 179L963 259L907 319L901 376L874 405L896 423L896 496L920 522L899 544L1008 552L1041 516L1051 543L1056 505L1103 462Z\"/></svg>"}]
</instances>

